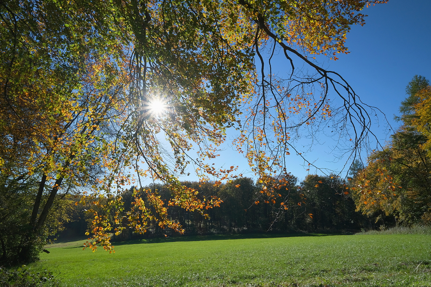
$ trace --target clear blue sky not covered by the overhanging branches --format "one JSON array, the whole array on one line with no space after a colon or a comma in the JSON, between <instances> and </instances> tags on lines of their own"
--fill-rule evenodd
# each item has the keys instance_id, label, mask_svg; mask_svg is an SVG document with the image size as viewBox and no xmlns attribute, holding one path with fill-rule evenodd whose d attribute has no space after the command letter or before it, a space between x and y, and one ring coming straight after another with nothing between
<instances>
[{"instance_id":1,"label":"clear blue sky not covered by the overhanging branches","mask_svg":"<svg viewBox=\"0 0 431 287\"><path fill-rule=\"evenodd\" d=\"M405 87L415 74L431 80L431 0L389 0L387 4L371 6L362 12L366 25L353 26L347 35L346 46L350 54L337 54L337 61L325 63L325 68L337 71L353 87L366 104L378 107L395 129L394 122L400 102L406 97ZM339 56L341 55L341 56ZM329 66L328 66L329 65ZM281 71L280 71L281 72ZM331 98L332 99L332 98ZM383 142L388 139L384 127L377 124L373 130ZM233 136L230 136L231 138ZM244 176L255 177L242 155L225 145L215 167L239 165ZM340 171L343 162L334 157L325 145L314 148L310 154L318 158L319 167ZM303 160L291 155L290 172L302 180L307 173ZM192 174L184 180L197 180ZM150 181L147 179L147 182Z\"/></svg>"}]
</instances>

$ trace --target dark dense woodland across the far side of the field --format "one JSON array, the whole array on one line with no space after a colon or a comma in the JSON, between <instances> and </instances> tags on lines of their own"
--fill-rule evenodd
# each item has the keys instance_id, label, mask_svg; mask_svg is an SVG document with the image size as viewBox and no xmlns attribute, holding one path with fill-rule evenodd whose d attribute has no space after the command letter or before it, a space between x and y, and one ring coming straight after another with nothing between
<instances>
[{"instance_id":1,"label":"dark dense woodland across the far side of the field","mask_svg":"<svg viewBox=\"0 0 431 287\"><path fill-rule=\"evenodd\" d=\"M277 180L278 179L274 179ZM375 216L369 218L355 211L356 206L350 194L344 194L344 181L339 177L309 175L302 182L290 176L288 188L280 188L275 198L262 200L265 190L262 184L251 178L236 179L231 183L214 187L211 183L183 182L184 185L199 191L200 198L216 194L222 199L220 207L209 208L205 212L208 218L198 211L187 211L180 207L170 207L172 220L182 224L186 235L194 234L231 234L247 232L358 232L361 228L376 228L382 224L375 222ZM157 192L166 202L171 198L169 188L160 184L146 186ZM122 193L125 210L134 201L134 188ZM77 206L76 211L85 206ZM154 211L153 211L154 213ZM112 214L113 216L113 214ZM124 213L124 216L127 216ZM78 218L79 217L79 218ZM63 236L83 234L86 231L85 213L74 215L75 221L66 224ZM384 220L391 221L389 218ZM154 236L175 236L169 228L162 229L155 219L150 220L147 232L134 233L126 228L114 240L148 238Z\"/></svg>"}]
</instances>

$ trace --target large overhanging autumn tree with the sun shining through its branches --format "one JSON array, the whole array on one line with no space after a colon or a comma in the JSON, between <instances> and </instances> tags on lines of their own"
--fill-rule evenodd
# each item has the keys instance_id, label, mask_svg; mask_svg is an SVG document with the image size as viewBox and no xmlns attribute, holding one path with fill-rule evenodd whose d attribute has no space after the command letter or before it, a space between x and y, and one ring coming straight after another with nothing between
<instances>
[{"instance_id":1,"label":"large overhanging autumn tree with the sun shining through its branches","mask_svg":"<svg viewBox=\"0 0 431 287\"><path fill-rule=\"evenodd\" d=\"M59 191L87 185L91 192L77 201L93 206L86 246L111 252L109 234L122 231L121 187L146 176L169 186L171 200L138 188L145 201L134 194L130 227L145 232L152 208L160 227L182 232L166 205L206 214L219 202L181 183L186 168L214 185L237 176L234 165L209 163L230 127L269 197L279 185L267 181L288 172L290 152L302 154L294 140L303 133L334 128L355 143L340 141L354 156L367 141L369 108L314 59L348 53L350 26L365 24L361 10L384 2L3 1L1 164L21 155L25 173L40 175L31 234ZM279 76L276 49L289 64ZM107 210L117 215L111 220Z\"/></svg>"}]
</instances>

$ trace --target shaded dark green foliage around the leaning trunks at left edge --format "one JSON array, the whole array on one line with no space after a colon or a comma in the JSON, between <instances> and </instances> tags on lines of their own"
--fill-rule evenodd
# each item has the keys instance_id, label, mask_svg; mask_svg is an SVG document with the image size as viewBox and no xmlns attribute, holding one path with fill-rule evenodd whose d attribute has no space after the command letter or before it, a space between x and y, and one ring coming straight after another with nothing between
<instances>
[{"instance_id":1,"label":"shaded dark green foliage around the leaning trunks at left edge","mask_svg":"<svg viewBox=\"0 0 431 287\"><path fill-rule=\"evenodd\" d=\"M28 221L34 205L34 194L37 193L38 178L25 175L12 178L1 174L0 177L0 262L16 264L34 260L39 257L41 248L46 244L49 235L62 231L64 223L70 220L70 201L59 196L53 201L53 210L45 223L38 230L38 236L29 237L31 228ZM43 198L46 200L46 198ZM28 244L33 248L28 249ZM25 250L25 253L22 252Z\"/></svg>"}]
</instances>

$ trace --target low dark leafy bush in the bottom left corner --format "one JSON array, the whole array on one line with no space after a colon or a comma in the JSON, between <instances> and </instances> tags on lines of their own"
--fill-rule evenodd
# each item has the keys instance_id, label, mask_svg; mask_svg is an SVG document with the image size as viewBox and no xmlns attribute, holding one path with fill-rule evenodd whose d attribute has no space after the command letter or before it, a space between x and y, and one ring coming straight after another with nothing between
<instances>
[{"instance_id":1,"label":"low dark leafy bush in the bottom left corner","mask_svg":"<svg viewBox=\"0 0 431 287\"><path fill-rule=\"evenodd\" d=\"M13 271L8 271L4 267L0 267L0 286L2 287L58 287L59 281L54 278L51 272L37 272L32 274L29 269L22 265Z\"/></svg>"}]
</instances>

